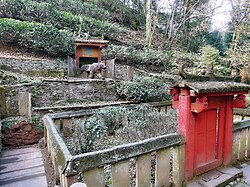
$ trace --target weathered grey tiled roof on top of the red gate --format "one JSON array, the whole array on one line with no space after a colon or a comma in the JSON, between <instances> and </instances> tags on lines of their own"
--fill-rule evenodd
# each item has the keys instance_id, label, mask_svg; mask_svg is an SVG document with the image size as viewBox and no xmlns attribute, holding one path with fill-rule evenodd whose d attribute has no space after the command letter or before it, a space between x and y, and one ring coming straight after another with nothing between
<instances>
[{"instance_id":1,"label":"weathered grey tiled roof on top of the red gate","mask_svg":"<svg viewBox=\"0 0 250 187\"><path fill-rule=\"evenodd\" d=\"M196 93L215 93L215 92L237 92L248 91L250 85L238 82L225 82L225 81L206 81L206 82L187 82L183 81L180 84L173 86L176 87L189 87Z\"/></svg>"}]
</instances>

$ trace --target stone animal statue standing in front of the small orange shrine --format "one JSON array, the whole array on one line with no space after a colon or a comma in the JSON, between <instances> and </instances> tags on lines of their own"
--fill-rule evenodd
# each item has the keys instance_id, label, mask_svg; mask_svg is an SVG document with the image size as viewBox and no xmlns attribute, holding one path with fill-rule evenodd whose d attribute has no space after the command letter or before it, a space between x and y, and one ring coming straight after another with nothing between
<instances>
[{"instance_id":1,"label":"stone animal statue standing in front of the small orange shrine","mask_svg":"<svg viewBox=\"0 0 250 187\"><path fill-rule=\"evenodd\" d=\"M90 79L93 79L95 76L99 79L104 79L101 74L104 69L107 69L107 66L104 63L95 62L93 64L83 65L80 71L86 71L88 73L88 78Z\"/></svg>"}]
</instances>

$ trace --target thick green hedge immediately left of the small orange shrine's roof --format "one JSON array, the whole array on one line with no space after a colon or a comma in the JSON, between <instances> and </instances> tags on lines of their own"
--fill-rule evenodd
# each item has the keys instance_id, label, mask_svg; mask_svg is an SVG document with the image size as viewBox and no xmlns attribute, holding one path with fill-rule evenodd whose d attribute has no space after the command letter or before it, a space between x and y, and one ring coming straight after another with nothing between
<instances>
[{"instance_id":1,"label":"thick green hedge immediately left of the small orange shrine's roof","mask_svg":"<svg viewBox=\"0 0 250 187\"><path fill-rule=\"evenodd\" d=\"M72 33L36 22L0 18L0 39L51 56L67 56L74 51Z\"/></svg>"}]
</instances>

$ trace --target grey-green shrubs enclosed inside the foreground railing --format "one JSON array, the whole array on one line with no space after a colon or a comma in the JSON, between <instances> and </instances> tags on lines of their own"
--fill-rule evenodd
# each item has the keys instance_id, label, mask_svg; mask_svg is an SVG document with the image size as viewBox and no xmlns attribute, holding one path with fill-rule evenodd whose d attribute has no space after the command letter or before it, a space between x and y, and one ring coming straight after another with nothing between
<instances>
[{"instance_id":1,"label":"grey-green shrubs enclosed inside the foreground railing","mask_svg":"<svg viewBox=\"0 0 250 187\"><path fill-rule=\"evenodd\" d=\"M73 149L78 154L173 133L175 117L158 112L149 104L105 107L86 120L75 122Z\"/></svg>"}]
</instances>

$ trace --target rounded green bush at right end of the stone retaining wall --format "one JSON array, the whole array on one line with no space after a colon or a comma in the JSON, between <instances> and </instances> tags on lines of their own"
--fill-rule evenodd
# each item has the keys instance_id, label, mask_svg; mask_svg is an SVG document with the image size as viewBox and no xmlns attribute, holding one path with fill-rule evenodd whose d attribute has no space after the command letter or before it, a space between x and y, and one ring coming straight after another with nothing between
<instances>
[{"instance_id":1,"label":"rounded green bush at right end of the stone retaining wall","mask_svg":"<svg viewBox=\"0 0 250 187\"><path fill-rule=\"evenodd\" d=\"M137 102L169 100L167 84L151 77L137 77L132 81L121 81L116 84L118 95Z\"/></svg>"}]
</instances>

